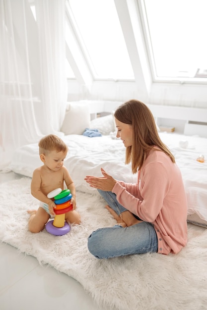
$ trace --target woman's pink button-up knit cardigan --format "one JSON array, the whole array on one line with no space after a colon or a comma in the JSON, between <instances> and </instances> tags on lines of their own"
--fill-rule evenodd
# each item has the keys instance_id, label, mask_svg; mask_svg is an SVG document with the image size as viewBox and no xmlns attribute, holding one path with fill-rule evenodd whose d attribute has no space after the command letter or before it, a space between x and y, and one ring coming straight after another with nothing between
<instances>
[{"instance_id":1,"label":"woman's pink button-up knit cardigan","mask_svg":"<svg viewBox=\"0 0 207 310\"><path fill-rule=\"evenodd\" d=\"M164 152L150 151L138 183L118 181L112 190L118 202L150 222L158 238L158 253L178 253L187 243L187 199L181 172Z\"/></svg>"}]
</instances>

